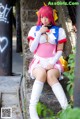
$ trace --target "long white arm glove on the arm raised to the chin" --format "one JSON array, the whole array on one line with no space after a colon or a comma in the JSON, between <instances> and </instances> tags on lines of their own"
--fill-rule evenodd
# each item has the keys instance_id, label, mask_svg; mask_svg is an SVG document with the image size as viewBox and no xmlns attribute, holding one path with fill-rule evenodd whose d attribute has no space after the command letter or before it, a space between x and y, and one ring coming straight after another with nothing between
<instances>
[{"instance_id":1,"label":"long white arm glove on the arm raised to the chin","mask_svg":"<svg viewBox=\"0 0 80 119\"><path fill-rule=\"evenodd\" d=\"M31 46L30 46L30 51L34 52L39 44L39 40L40 40L40 36L41 36L41 32L38 31L36 34L36 37L34 39L34 41L32 42Z\"/></svg>"}]
</instances>

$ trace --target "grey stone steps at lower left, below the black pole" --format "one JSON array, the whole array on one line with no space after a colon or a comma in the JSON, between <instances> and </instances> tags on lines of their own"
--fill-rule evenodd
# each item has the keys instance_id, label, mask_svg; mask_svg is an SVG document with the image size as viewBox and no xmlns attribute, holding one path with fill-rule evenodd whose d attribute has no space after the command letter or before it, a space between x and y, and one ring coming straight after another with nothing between
<instances>
[{"instance_id":1,"label":"grey stone steps at lower left, below the black pole","mask_svg":"<svg viewBox=\"0 0 80 119\"><path fill-rule=\"evenodd\" d=\"M22 76L2 76L0 77L0 93L2 108L12 109L11 119L23 119L20 100L20 86ZM6 119L6 118L4 118Z\"/></svg>"}]
</instances>

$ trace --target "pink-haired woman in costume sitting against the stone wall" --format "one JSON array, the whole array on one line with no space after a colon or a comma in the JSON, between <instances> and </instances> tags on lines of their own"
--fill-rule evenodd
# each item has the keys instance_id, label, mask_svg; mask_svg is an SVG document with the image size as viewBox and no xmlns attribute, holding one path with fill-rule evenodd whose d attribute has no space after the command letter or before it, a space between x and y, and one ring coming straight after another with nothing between
<instances>
[{"instance_id":1,"label":"pink-haired woman in costume sitting against the stone wall","mask_svg":"<svg viewBox=\"0 0 80 119\"><path fill-rule=\"evenodd\" d=\"M63 52L64 43L67 41L65 31L54 23L53 10L49 6L43 6L38 11L38 22L28 33L30 51L34 53L29 73L35 79L30 99L30 118L39 119L36 112L36 104L39 101L44 83L51 86L61 107L68 106L67 98L59 83L59 77L63 67L59 61Z\"/></svg>"}]
</instances>

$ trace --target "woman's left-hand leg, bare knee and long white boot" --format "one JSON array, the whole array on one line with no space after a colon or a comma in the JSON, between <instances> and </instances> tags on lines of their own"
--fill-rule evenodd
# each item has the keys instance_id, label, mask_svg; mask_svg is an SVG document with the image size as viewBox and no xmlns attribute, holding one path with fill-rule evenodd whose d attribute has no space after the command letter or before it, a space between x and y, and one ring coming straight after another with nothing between
<instances>
[{"instance_id":1,"label":"woman's left-hand leg, bare knee and long white boot","mask_svg":"<svg viewBox=\"0 0 80 119\"><path fill-rule=\"evenodd\" d=\"M33 76L36 78L33 84L30 105L29 105L29 113L31 119L39 119L36 105L39 101L41 92L43 90L44 82L46 81L46 71L43 68L35 68L33 70Z\"/></svg>"}]
</instances>

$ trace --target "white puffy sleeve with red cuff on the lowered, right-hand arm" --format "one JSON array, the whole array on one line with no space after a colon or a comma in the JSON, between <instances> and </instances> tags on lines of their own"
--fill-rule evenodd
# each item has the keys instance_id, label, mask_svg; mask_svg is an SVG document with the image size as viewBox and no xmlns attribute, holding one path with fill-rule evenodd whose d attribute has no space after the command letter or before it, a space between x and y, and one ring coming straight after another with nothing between
<instances>
[{"instance_id":1,"label":"white puffy sleeve with red cuff on the lowered, right-hand arm","mask_svg":"<svg viewBox=\"0 0 80 119\"><path fill-rule=\"evenodd\" d=\"M66 33L63 28L59 28L58 43L64 43L67 41Z\"/></svg>"}]
</instances>

